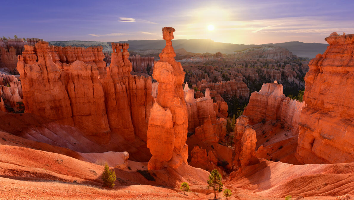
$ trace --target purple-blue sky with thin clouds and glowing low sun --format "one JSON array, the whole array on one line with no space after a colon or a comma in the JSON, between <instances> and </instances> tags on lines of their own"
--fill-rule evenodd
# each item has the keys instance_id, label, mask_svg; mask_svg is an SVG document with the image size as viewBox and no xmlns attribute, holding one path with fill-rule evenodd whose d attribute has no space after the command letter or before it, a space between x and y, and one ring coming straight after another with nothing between
<instances>
[{"instance_id":1,"label":"purple-blue sky with thin clouds and glowing low sun","mask_svg":"<svg viewBox=\"0 0 354 200\"><path fill-rule=\"evenodd\" d=\"M46 41L155 40L165 26L175 39L236 44L326 43L334 31L354 33L353 0L3 0L0 10L0 36Z\"/></svg>"}]
</instances>

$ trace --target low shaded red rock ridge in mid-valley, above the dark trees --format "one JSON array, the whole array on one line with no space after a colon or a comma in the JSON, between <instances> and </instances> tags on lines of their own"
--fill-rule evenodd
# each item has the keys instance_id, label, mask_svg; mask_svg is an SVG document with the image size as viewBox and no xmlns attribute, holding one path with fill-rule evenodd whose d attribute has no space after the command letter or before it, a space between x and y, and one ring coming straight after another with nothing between
<instances>
[{"instance_id":1,"label":"low shaded red rock ridge in mid-valley, above the dark trees","mask_svg":"<svg viewBox=\"0 0 354 200\"><path fill-rule=\"evenodd\" d=\"M202 80L197 83L197 88L203 90L209 88L215 90L219 95L227 95L229 98L237 96L238 98L248 98L250 89L242 82L240 78L232 81L222 81L218 83L207 83L206 80Z\"/></svg>"}]
</instances>

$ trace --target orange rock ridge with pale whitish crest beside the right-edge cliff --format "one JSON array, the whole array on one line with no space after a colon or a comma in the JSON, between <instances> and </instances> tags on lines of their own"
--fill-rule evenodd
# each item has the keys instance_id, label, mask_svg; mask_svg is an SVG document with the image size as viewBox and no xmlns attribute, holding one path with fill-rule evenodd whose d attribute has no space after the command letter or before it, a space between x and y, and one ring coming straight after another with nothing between
<instances>
[{"instance_id":1,"label":"orange rock ridge with pale whitish crest beside the right-edge cliff","mask_svg":"<svg viewBox=\"0 0 354 200\"><path fill-rule=\"evenodd\" d=\"M282 85L274 81L274 83L263 84L259 92L251 94L243 114L249 117L250 125L262 120L280 120L284 123L284 127L297 133L300 113L304 105L304 102L285 97Z\"/></svg>"}]
</instances>

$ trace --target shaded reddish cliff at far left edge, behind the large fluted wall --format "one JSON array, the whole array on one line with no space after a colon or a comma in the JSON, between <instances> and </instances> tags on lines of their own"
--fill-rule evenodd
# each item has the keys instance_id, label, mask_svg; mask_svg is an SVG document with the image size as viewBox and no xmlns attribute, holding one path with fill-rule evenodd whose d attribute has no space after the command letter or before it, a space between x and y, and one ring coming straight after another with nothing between
<instances>
[{"instance_id":1,"label":"shaded reddish cliff at far left edge, behind the large fluted wall","mask_svg":"<svg viewBox=\"0 0 354 200\"><path fill-rule=\"evenodd\" d=\"M0 38L0 71L17 73L17 55L21 55L24 45L35 45L42 39L27 38L27 42L23 39L7 39ZM18 74L18 73L17 73Z\"/></svg>"}]
</instances>

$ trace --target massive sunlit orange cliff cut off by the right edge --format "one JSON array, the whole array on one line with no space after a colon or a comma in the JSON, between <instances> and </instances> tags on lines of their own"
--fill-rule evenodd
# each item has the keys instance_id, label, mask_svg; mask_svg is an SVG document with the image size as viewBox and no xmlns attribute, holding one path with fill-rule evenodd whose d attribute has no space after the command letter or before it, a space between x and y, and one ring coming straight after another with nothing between
<instances>
[{"instance_id":1,"label":"massive sunlit orange cliff cut off by the right edge","mask_svg":"<svg viewBox=\"0 0 354 200\"><path fill-rule=\"evenodd\" d=\"M354 34L332 33L309 63L296 158L305 164L354 161Z\"/></svg>"}]
</instances>

